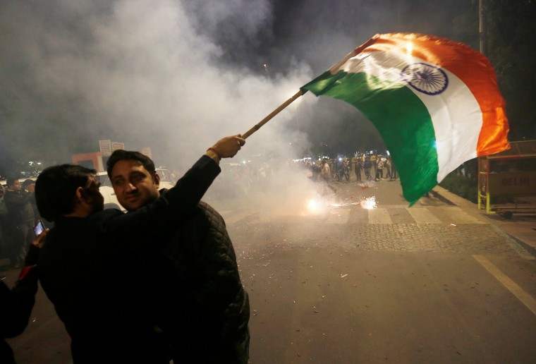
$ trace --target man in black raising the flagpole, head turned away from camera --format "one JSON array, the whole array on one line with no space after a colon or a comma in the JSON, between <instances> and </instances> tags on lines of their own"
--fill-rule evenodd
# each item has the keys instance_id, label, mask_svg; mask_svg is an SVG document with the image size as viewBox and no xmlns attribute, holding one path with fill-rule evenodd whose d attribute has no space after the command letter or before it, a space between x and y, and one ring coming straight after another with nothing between
<instances>
[{"instance_id":1,"label":"man in black raising the flagpole, head turned away from camera","mask_svg":"<svg viewBox=\"0 0 536 364\"><path fill-rule=\"evenodd\" d=\"M63 164L39 174L37 207L54 222L39 280L71 336L73 363L169 364L154 311L159 293L135 270L123 270L125 262L147 247L162 249L221 171L219 160L244 143L240 135L219 140L165 196L130 214L103 210L94 170ZM155 240L157 232L167 239Z\"/></svg>"}]
</instances>

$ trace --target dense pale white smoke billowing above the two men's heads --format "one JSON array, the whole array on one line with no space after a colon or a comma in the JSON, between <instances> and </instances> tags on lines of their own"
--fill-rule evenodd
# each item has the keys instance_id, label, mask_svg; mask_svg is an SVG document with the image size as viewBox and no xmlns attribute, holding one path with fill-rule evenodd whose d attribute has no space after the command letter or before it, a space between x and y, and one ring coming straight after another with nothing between
<instances>
[{"instance_id":1,"label":"dense pale white smoke billowing above the two men's heads","mask_svg":"<svg viewBox=\"0 0 536 364\"><path fill-rule=\"evenodd\" d=\"M12 2L2 19L20 30L10 49L18 49L33 97L40 100L26 93L17 102L27 102L33 114L13 117L23 130L37 123L54 130L56 138L42 143L48 143L44 150L61 152L61 162L96 152L99 139L111 139L130 150L151 147L157 164L190 166L219 138L245 133L312 78L310 68L297 62L269 78L226 66L221 47L207 34L231 29L225 24L245 8L247 21L232 29L246 40L255 37L270 21L271 7L264 0L205 4L187 13L183 1L173 0L59 0L54 7ZM14 89L24 90L20 84ZM252 135L236 159L298 154L292 140L306 147L307 138L286 128L296 107Z\"/></svg>"}]
</instances>

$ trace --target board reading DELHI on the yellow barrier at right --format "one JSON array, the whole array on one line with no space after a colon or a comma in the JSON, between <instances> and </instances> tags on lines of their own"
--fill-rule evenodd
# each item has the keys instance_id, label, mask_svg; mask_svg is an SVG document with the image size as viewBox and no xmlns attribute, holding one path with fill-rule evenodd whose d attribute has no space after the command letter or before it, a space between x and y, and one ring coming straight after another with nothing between
<instances>
[{"instance_id":1,"label":"board reading DELHI on the yellow barrier at right","mask_svg":"<svg viewBox=\"0 0 536 364\"><path fill-rule=\"evenodd\" d=\"M490 173L489 193L493 195L535 195L536 171Z\"/></svg>"}]
</instances>

